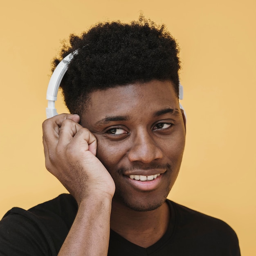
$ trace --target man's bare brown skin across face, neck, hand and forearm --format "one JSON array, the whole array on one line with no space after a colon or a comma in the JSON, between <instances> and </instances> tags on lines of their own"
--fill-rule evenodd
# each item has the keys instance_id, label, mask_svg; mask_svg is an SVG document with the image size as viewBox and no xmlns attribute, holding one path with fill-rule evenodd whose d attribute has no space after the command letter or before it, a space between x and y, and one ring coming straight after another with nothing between
<instances>
[{"instance_id":1,"label":"man's bare brown skin across face, neck, hand and forearm","mask_svg":"<svg viewBox=\"0 0 256 256\"><path fill-rule=\"evenodd\" d=\"M95 255L106 255L110 226L141 247L157 242L168 227L171 213L165 200L179 173L185 144L185 119L171 81L92 92L81 120L74 115L54 117L52 130L56 134L59 127L56 144L49 145L50 129L45 124L47 168L79 205L61 253L72 252L74 236L81 238L80 243L76 241L79 252L92 243L95 248L95 240L85 245L88 234L81 230L88 225L95 230L94 222L102 227L97 237L107 239L97 247L102 251L92 251ZM95 202L97 208L99 200L104 201L105 211L99 213L92 204L92 214L85 214L88 202ZM88 220L88 216L92 218Z\"/></svg>"}]
</instances>

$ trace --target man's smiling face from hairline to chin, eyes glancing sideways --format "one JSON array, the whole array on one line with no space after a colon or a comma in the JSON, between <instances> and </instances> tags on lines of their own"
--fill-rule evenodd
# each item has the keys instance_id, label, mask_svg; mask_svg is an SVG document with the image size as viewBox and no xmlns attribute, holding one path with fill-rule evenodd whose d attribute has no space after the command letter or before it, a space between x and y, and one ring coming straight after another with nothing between
<instances>
[{"instance_id":1,"label":"man's smiling face from hairline to chin, eyes glancing sideways","mask_svg":"<svg viewBox=\"0 0 256 256\"><path fill-rule=\"evenodd\" d=\"M179 173L185 144L172 83L118 86L92 92L90 99L81 125L97 138L97 157L116 185L113 203L136 211L161 206Z\"/></svg>"}]
</instances>

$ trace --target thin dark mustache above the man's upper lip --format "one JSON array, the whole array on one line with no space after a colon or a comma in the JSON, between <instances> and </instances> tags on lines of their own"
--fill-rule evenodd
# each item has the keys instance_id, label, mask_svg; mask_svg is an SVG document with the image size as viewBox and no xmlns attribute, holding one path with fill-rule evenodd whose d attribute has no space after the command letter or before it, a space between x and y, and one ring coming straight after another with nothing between
<instances>
[{"instance_id":1,"label":"thin dark mustache above the man's upper lip","mask_svg":"<svg viewBox=\"0 0 256 256\"><path fill-rule=\"evenodd\" d=\"M167 171L172 171L172 166L171 164L139 164L139 163L134 163L132 166L127 167L123 166L117 169L117 172L119 174L126 173L126 172L131 172L131 171L136 171L136 170L153 170L153 169L161 169L161 170L167 170Z\"/></svg>"}]
</instances>

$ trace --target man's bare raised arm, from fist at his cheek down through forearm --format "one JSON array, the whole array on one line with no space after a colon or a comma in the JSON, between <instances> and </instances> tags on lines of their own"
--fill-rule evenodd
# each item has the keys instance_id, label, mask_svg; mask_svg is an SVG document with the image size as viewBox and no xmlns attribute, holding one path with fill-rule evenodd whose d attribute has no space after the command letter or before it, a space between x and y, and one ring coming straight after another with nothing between
<instances>
[{"instance_id":1,"label":"man's bare raised arm, from fist at his cheek down through forearm","mask_svg":"<svg viewBox=\"0 0 256 256\"><path fill-rule=\"evenodd\" d=\"M107 255L115 183L96 157L97 139L63 114L43 123L45 166L78 203L78 212L59 256Z\"/></svg>"}]
</instances>

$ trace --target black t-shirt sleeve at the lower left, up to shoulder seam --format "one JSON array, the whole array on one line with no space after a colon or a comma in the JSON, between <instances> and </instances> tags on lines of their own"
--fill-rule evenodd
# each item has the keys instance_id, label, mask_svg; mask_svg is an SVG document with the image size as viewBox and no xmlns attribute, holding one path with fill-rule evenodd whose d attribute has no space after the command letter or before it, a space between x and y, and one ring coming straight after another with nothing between
<instances>
[{"instance_id":1,"label":"black t-shirt sleeve at the lower left, up to shoulder seam","mask_svg":"<svg viewBox=\"0 0 256 256\"><path fill-rule=\"evenodd\" d=\"M0 256L55 256L47 229L28 211L13 208L0 221Z\"/></svg>"}]
</instances>

